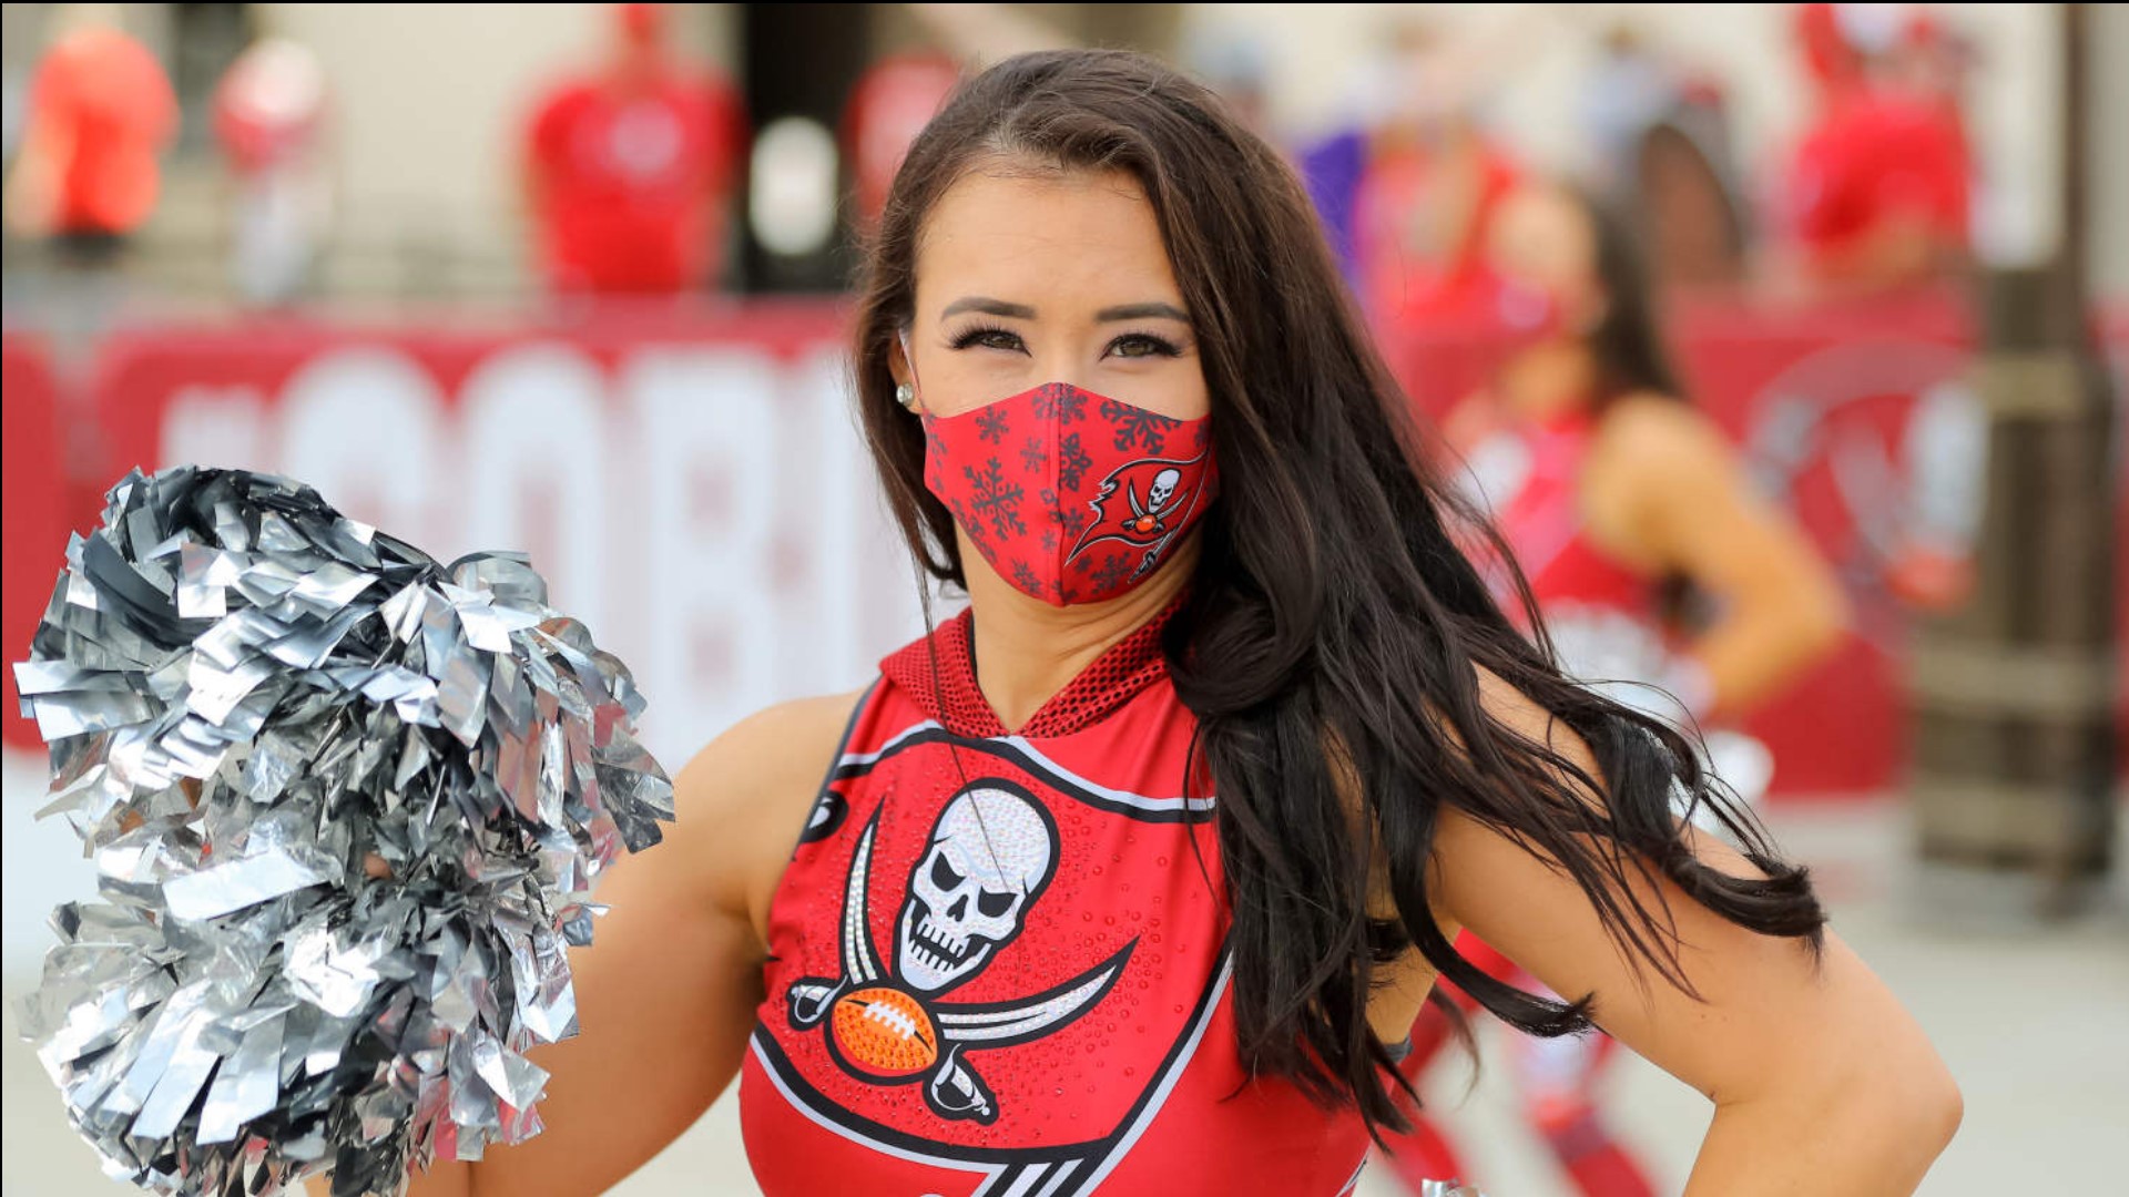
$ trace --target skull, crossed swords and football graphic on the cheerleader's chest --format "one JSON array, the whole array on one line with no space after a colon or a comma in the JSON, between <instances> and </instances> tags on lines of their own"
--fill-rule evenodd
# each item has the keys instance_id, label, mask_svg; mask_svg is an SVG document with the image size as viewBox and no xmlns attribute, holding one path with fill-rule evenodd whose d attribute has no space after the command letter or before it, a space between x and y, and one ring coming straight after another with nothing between
<instances>
[{"instance_id":1,"label":"skull, crossed swords and football graphic on the cheerleader's chest","mask_svg":"<svg viewBox=\"0 0 2129 1197\"><path fill-rule=\"evenodd\" d=\"M828 1054L875 1084L924 1082L941 1118L994 1122L999 1101L967 1052L1056 1033L1086 1014L1122 975L1137 939L1043 993L1007 1003L943 1003L1026 927L1028 907L1056 873L1056 829L1020 786L981 780L933 824L896 920L894 978L873 946L869 878L879 811L864 824L843 886L841 978L803 978L783 993L790 1022L826 1024Z\"/></svg>"}]
</instances>

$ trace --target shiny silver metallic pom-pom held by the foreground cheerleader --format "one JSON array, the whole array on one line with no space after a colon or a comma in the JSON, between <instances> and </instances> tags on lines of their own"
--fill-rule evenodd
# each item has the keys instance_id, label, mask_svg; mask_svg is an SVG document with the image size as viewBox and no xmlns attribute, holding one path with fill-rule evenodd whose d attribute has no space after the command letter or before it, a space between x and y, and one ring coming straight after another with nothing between
<instances>
[{"instance_id":1,"label":"shiny silver metallic pom-pom held by the foreground cheerleader","mask_svg":"<svg viewBox=\"0 0 2129 1197\"><path fill-rule=\"evenodd\" d=\"M592 882L673 788L517 554L449 567L243 471L132 473L17 665L102 901L21 1027L104 1169L398 1195L539 1133Z\"/></svg>"}]
</instances>

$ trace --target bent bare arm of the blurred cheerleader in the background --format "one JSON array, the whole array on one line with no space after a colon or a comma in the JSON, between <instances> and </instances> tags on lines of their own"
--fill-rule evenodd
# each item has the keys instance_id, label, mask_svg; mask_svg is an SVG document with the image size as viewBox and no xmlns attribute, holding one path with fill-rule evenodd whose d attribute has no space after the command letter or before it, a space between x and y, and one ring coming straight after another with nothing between
<instances>
[{"instance_id":1,"label":"bent bare arm of the blurred cheerleader in the background","mask_svg":"<svg viewBox=\"0 0 2129 1197\"><path fill-rule=\"evenodd\" d=\"M1639 569L1684 575L1718 605L1688 650L1707 692L1695 716L1771 699L1839 643L1848 603L1790 520L1746 483L1722 432L1669 398L1627 398L1590 454L1590 532Z\"/></svg>"}]
</instances>

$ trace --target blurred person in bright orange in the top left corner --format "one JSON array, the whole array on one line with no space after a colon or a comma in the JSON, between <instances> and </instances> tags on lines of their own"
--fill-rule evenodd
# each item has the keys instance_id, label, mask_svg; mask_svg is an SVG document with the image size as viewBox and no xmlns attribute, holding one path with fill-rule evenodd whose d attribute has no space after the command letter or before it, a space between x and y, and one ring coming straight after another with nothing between
<instances>
[{"instance_id":1,"label":"blurred person in bright orange in the top left corner","mask_svg":"<svg viewBox=\"0 0 2129 1197\"><path fill-rule=\"evenodd\" d=\"M6 181L9 224L47 239L66 266L109 266L155 211L177 98L155 55L119 28L117 4L72 4L53 28Z\"/></svg>"}]
</instances>

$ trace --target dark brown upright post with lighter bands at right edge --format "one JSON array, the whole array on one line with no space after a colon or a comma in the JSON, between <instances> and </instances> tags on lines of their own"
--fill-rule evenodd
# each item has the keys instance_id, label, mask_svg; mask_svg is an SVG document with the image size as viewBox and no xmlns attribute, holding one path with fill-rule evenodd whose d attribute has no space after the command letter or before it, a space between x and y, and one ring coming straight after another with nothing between
<instances>
[{"instance_id":1,"label":"dark brown upright post with lighter bands at right edge","mask_svg":"<svg viewBox=\"0 0 2129 1197\"><path fill-rule=\"evenodd\" d=\"M1976 392L1988 409L1978 586L1916 630L1914 811L1933 909L1971 912L1976 875L2035 914L2082 905L2112 867L2112 400L2095 351L2089 4L2061 17L2061 239L2037 266L1982 275ZM1952 880L1961 888L1952 888Z\"/></svg>"}]
</instances>

